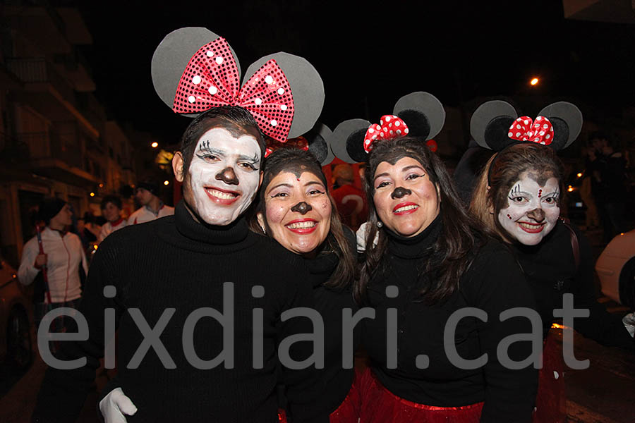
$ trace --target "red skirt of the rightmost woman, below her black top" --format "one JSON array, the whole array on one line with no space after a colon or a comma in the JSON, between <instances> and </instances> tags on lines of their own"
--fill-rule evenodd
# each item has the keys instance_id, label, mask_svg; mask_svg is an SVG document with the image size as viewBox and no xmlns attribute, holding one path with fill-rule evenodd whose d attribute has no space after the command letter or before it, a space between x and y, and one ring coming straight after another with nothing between
<instances>
[{"instance_id":1,"label":"red skirt of the rightmost woman, below her black top","mask_svg":"<svg viewBox=\"0 0 635 423\"><path fill-rule=\"evenodd\" d=\"M543 368L538 372L538 395L534 423L567 422L567 398L564 395L564 360L550 333L543 347Z\"/></svg>"}]
</instances>

